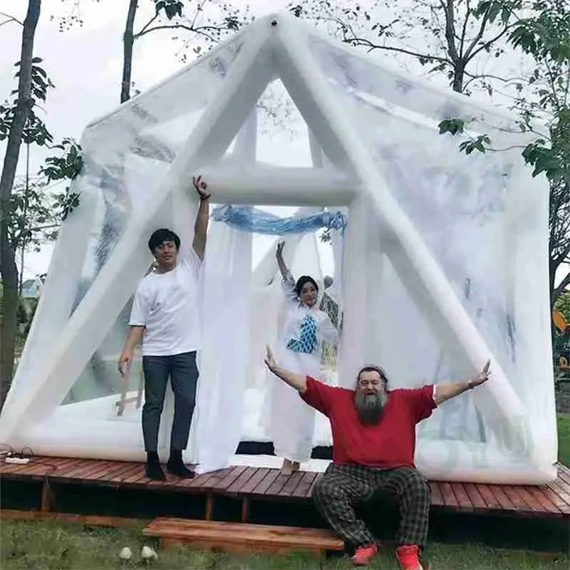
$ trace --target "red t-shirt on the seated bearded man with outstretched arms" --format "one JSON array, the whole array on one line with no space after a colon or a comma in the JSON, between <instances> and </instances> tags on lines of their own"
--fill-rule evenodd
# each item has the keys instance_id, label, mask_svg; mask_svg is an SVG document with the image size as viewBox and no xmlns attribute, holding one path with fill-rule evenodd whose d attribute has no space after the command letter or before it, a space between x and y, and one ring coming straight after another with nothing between
<instances>
[{"instance_id":1,"label":"red t-shirt on the seated bearded man with outstretched arms","mask_svg":"<svg viewBox=\"0 0 570 570\"><path fill-rule=\"evenodd\" d=\"M376 425L361 422L354 390L333 388L308 376L301 398L330 420L336 465L383 469L415 467L415 425L429 418L436 408L433 385L388 390L388 402Z\"/></svg>"}]
</instances>

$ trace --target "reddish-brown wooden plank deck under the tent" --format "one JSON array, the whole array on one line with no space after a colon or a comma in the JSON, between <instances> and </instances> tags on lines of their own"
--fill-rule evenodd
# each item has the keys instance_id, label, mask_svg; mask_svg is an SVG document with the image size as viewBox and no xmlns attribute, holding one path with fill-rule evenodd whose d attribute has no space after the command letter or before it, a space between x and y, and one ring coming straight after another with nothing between
<instances>
[{"instance_id":1,"label":"reddish-brown wooden plank deck under the tent","mask_svg":"<svg viewBox=\"0 0 570 570\"><path fill-rule=\"evenodd\" d=\"M41 510L51 512L51 483L86 484L117 489L147 489L149 492L202 494L207 498L204 518L212 520L217 496L242 502L242 522L249 520L252 500L308 502L322 475L296 472L281 475L266 467L229 467L181 480L168 476L165 482L145 477L138 462L83 460L63 457L33 457L26 465L0 461L0 480L43 482ZM546 485L497 485L430 482L432 509L452 512L511 514L526 517L570 518L570 469L559 465L558 477Z\"/></svg>"}]
</instances>

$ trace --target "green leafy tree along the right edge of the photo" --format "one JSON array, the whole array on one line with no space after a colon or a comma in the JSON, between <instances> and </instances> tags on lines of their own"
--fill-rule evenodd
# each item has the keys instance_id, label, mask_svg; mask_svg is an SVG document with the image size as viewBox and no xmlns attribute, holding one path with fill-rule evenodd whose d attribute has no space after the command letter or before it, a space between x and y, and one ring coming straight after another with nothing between
<instances>
[{"instance_id":1,"label":"green leafy tree along the right edge of the photo","mask_svg":"<svg viewBox=\"0 0 570 570\"><path fill-rule=\"evenodd\" d=\"M500 8L507 3L494 4ZM570 284L570 11L565 0L539 0L534 9L532 16L514 22L507 40L534 60L512 106L521 116L521 130L536 135L522 156L533 167L534 177L544 173L549 181L549 281L554 307ZM466 126L450 118L440 123L440 133L465 133ZM460 150L470 154L494 149L489 135L478 135L464 140Z\"/></svg>"}]
</instances>

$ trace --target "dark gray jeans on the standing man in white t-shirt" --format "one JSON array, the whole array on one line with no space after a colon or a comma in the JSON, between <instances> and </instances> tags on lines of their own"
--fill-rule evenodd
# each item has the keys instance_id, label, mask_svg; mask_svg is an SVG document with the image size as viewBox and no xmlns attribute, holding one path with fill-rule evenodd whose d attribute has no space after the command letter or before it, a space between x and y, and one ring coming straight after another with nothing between
<instances>
[{"instance_id":1,"label":"dark gray jeans on the standing man in white t-shirt","mask_svg":"<svg viewBox=\"0 0 570 570\"><path fill-rule=\"evenodd\" d=\"M170 449L185 450L196 401L198 381L196 351L173 356L143 356L142 371L145 373L145 405L142 406L142 437L145 440L145 451L157 451L160 415L165 403L169 376L174 392L174 420Z\"/></svg>"}]
</instances>

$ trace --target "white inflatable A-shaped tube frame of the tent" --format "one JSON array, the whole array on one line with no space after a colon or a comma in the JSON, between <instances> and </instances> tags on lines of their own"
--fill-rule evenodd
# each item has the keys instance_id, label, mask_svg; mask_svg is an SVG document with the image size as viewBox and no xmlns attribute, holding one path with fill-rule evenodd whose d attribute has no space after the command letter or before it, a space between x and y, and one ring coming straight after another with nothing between
<instances>
[{"instance_id":1,"label":"white inflatable A-shaped tube frame of the tent","mask_svg":"<svg viewBox=\"0 0 570 570\"><path fill-rule=\"evenodd\" d=\"M348 206L350 223L345 240L343 290L351 291L351 294L343 299L343 342L345 347L350 346L350 350L343 352L339 371L341 383L352 385L354 371L375 354L378 331L363 326L368 308L362 299L371 293L369 288L373 287L375 276L382 271L382 257L384 254L390 256L390 249L398 250L400 263L405 259L405 269L400 276L405 274L408 283L413 283L410 295L417 295L423 300L421 302L427 299L432 325L442 336L452 338L455 348L469 363L468 368L475 373L490 358L492 380L475 391L473 398L477 410L491 428L493 442L463 445L461 442L449 444L420 440L418 466L426 475L446 480L527 484L542 483L555 477L554 412L552 418L544 420L544 430L538 430L539 423L530 420L533 410L522 403L513 388L514 382L509 381L494 357L492 346L477 330L430 249L390 194L383 177L383 165L373 160L365 142L343 112L331 84L307 47L309 34L316 32L288 14L259 19L242 31L243 45L229 68L224 85L207 103L192 135L170 165L162 185L144 212L131 219L107 263L69 318L74 295L71 290L73 280L69 276L81 271L88 241L84 227L90 216L90 197L88 193L82 195L81 205L63 225L53 253L41 303L0 417L1 442L15 446L31 445L36 453L53 455L125 460L143 457L140 447L113 445L115 437L123 441L131 437L138 440L138 425L110 422L89 425L87 422L85 433L73 437L73 445L65 441L46 444L42 433L48 429L53 410L60 405L93 350L103 340L108 327L128 301L128 296L109 296L108 291L115 289L119 282L128 283L130 291L135 289L148 265L142 237L156 226L157 220L169 222L192 217L194 206L181 194L180 187L190 173L202 172L217 202ZM329 38L319 37L319 41L334 44L336 49L351 50L339 47ZM355 56L353 51L350 53ZM399 72L390 73L397 75ZM281 79L309 127L315 168L258 167L251 175L242 172L237 179L235 170L232 170L234 163L227 161L226 170L224 160L227 159L219 162L220 157L248 118L255 125L252 110L275 76ZM404 76L402 78L410 81ZM169 81L154 90L160 91ZM438 118L442 95L428 85L423 85L423 89L427 98L421 108L418 104L418 108L411 108L410 113ZM490 124L512 123L508 115L478 106L475 101L460 95L447 93L445 97L455 100L458 112L467 108L468 112L477 115L481 128ZM137 98L133 98L113 113L121 113L125 106L135 105L136 101ZM104 120L101 118L90 127ZM254 129L250 130L250 135L254 132ZM238 139L234 155L242 159L249 155L249 159L253 157L254 160L255 137L252 140L252 136L248 136L247 140L247 144L239 147ZM322 165L321 149L332 168L318 169L319 163ZM528 191L544 192L546 197L544 184L530 182L529 175L525 176L528 177L524 182L527 190L532 187ZM279 180L279 187L275 180ZM186 205L180 209L182 202ZM541 203L541 208L544 209L544 203ZM190 241L189 236L185 238ZM381 242L385 245L378 247ZM546 251L537 259L544 274L538 278L533 276L533 279L540 279L546 298ZM399 267L397 269L400 271ZM524 290L517 294L524 295ZM533 377L542 377L543 383L537 389L545 390L548 393L546 398L550 400L553 388L548 314L544 311L544 304L537 311L527 318L528 326L539 323L542 329L537 335L538 346L533 348L534 356L529 357L529 373ZM96 326L93 314L97 314ZM125 430L124 436L119 435L120 430ZM473 467L474 455L480 457L477 468Z\"/></svg>"}]
</instances>

